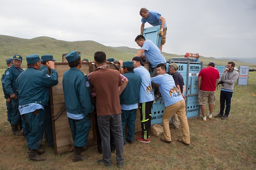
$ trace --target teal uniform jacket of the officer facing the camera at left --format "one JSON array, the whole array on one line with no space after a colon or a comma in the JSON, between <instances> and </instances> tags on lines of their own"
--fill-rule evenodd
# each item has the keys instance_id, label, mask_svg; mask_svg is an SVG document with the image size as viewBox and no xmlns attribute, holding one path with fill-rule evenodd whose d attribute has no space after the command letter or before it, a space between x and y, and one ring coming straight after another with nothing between
<instances>
[{"instance_id":1,"label":"teal uniform jacket of the officer facing the camera at left","mask_svg":"<svg viewBox=\"0 0 256 170\"><path fill-rule=\"evenodd\" d=\"M23 71L24 70L22 68L21 70L19 70L18 68L14 67L14 65L7 68L7 70L5 71L5 90L7 94L15 94L18 97L19 94L17 91L18 88L16 79Z\"/></svg>"}]
</instances>

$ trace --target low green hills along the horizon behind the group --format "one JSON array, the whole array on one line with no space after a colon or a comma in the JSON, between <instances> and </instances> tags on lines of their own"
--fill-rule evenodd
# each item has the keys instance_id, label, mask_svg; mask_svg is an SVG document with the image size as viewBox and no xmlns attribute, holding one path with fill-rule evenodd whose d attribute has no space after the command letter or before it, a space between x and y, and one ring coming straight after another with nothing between
<instances>
[{"instance_id":1,"label":"low green hills along the horizon behind the group","mask_svg":"<svg viewBox=\"0 0 256 170\"><path fill-rule=\"evenodd\" d=\"M57 62L62 62L62 54L70 51L80 51L82 57L88 58L89 61L93 61L95 51L104 51L107 54L107 58L115 58L115 60L122 59L124 61L129 60L135 56L139 49L130 47L107 47L94 41L75 41L68 42L62 40L56 40L51 37L36 37L33 39L23 39L18 37L11 37L7 35L0 35L0 66L6 66L5 59L12 58L14 54L20 54L24 57L22 66L26 66L26 56L30 54L39 54L39 56L45 54L51 54L57 59ZM164 53L165 58L184 57L183 55ZM204 62L204 66L209 61L215 61L216 65L226 65L228 60L207 58L200 56L199 61ZM249 65L256 67L255 64L243 63L241 61L235 61L236 66Z\"/></svg>"}]
</instances>

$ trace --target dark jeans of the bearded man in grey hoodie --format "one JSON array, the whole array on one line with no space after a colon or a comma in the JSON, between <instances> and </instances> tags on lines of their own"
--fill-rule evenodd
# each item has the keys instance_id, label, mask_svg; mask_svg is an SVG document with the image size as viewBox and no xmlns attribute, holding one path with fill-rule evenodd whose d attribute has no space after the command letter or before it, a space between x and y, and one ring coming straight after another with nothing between
<instances>
[{"instance_id":1,"label":"dark jeans of the bearded man in grey hoodie","mask_svg":"<svg viewBox=\"0 0 256 170\"><path fill-rule=\"evenodd\" d=\"M220 114L223 116L226 102L225 115L228 116L231 108L232 93L230 91L220 91Z\"/></svg>"}]
</instances>

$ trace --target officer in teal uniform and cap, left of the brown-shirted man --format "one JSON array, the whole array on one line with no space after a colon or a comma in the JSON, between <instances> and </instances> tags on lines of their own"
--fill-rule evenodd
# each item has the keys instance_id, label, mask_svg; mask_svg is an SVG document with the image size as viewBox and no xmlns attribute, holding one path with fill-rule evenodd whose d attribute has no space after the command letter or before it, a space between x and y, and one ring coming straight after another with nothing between
<instances>
[{"instance_id":1,"label":"officer in teal uniform and cap, left of the brown-shirted man","mask_svg":"<svg viewBox=\"0 0 256 170\"><path fill-rule=\"evenodd\" d=\"M66 55L70 69L64 72L62 85L66 105L66 113L74 142L73 162L83 161L89 156L82 156L87 144L91 127L92 102L88 77L80 71L82 61L77 51Z\"/></svg>"}]
</instances>

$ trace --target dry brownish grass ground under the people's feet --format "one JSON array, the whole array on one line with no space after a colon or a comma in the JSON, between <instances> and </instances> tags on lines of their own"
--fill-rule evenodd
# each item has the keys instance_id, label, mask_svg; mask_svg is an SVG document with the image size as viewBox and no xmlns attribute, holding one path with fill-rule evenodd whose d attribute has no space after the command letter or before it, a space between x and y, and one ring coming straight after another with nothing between
<instances>
[{"instance_id":1,"label":"dry brownish grass ground under the people's feet","mask_svg":"<svg viewBox=\"0 0 256 170\"><path fill-rule=\"evenodd\" d=\"M4 69L0 69L2 74ZM97 147L87 151L88 160L72 163L72 153L55 156L52 148L43 143L46 161L28 161L26 139L12 135L6 121L6 106L0 88L0 170L101 170L116 168L115 154L111 168L97 165L102 158ZM219 111L220 90L216 91L214 114ZM191 145L176 142L181 130L171 130L172 143L150 136L151 142L135 141L124 147L126 170L254 170L256 169L256 72L249 72L247 86L235 84L228 120L213 118L189 119ZM137 135L135 135L137 137Z\"/></svg>"}]
</instances>

